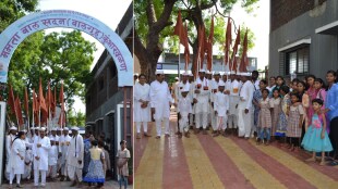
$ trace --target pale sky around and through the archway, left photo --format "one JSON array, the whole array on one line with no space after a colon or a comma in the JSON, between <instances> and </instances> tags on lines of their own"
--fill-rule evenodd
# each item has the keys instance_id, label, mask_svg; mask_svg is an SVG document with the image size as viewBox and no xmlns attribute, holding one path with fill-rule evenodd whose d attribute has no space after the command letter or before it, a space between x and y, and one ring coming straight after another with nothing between
<instances>
[{"instance_id":1,"label":"pale sky around and through the archway, left photo","mask_svg":"<svg viewBox=\"0 0 338 189\"><path fill-rule=\"evenodd\" d=\"M101 21L112 30L116 30L131 2L132 0L40 0L38 9L41 11L62 9L82 12ZM61 30L71 29L47 29L46 33ZM96 43L97 51L94 54L93 68L105 47L85 33L83 33L83 37ZM85 113L85 104L79 98L75 98L74 109L76 112Z\"/></svg>"}]
</instances>

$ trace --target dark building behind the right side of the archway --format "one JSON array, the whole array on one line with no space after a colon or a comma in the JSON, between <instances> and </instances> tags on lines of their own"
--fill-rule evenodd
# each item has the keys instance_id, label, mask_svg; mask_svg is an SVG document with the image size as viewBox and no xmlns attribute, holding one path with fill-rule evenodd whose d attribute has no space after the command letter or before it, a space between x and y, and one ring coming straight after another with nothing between
<instances>
[{"instance_id":1,"label":"dark building behind the right side of the archway","mask_svg":"<svg viewBox=\"0 0 338 189\"><path fill-rule=\"evenodd\" d=\"M129 7L116 33L133 52L133 5ZM95 136L105 135L110 146L110 162L117 178L114 156L122 139L132 147L132 87L118 87L118 71L105 50L92 71L93 81L86 86L86 130ZM131 149L130 149L131 150Z\"/></svg>"}]
</instances>

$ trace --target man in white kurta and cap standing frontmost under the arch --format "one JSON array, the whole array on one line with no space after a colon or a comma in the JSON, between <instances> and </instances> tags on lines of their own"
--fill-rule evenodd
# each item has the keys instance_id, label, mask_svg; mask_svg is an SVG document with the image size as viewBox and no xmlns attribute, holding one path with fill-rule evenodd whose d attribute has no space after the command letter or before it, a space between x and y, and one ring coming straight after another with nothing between
<instances>
[{"instance_id":1,"label":"man in white kurta and cap standing frontmost under the arch","mask_svg":"<svg viewBox=\"0 0 338 189\"><path fill-rule=\"evenodd\" d=\"M39 173L41 174L41 187L46 186L46 174L48 171L48 151L50 140L45 136L46 128L39 128L39 137L35 138L33 144L34 156L34 186L38 187Z\"/></svg>"}]
</instances>

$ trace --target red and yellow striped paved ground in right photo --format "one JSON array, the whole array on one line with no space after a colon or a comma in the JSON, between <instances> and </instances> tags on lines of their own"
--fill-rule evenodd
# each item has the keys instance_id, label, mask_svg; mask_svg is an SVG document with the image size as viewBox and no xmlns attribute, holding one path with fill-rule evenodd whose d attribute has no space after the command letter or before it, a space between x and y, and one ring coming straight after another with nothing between
<instances>
[{"instance_id":1,"label":"red and yellow striped paved ground in right photo","mask_svg":"<svg viewBox=\"0 0 338 189\"><path fill-rule=\"evenodd\" d=\"M310 154L277 143L256 146L236 136L191 135L179 139L177 117L170 137L135 139L135 189L159 188L338 188L338 167L305 163Z\"/></svg>"}]
</instances>

